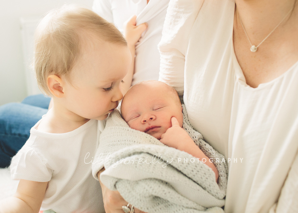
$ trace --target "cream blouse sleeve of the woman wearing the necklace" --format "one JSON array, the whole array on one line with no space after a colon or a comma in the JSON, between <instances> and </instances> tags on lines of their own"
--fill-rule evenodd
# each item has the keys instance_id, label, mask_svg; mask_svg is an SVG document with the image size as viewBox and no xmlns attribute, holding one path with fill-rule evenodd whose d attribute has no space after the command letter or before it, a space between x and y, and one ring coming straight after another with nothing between
<instances>
[{"instance_id":1,"label":"cream blouse sleeve of the woman wearing the necklace","mask_svg":"<svg viewBox=\"0 0 298 213\"><path fill-rule=\"evenodd\" d=\"M187 38L203 0L170 1L158 44L160 53L159 81L174 87L180 99L184 92L184 65Z\"/></svg>"}]
</instances>

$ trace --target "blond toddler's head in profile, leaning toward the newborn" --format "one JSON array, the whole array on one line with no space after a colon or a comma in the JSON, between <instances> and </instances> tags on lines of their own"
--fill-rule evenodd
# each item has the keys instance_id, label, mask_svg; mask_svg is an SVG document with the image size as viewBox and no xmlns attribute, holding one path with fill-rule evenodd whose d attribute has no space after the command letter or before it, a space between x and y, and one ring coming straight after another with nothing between
<instances>
[{"instance_id":1,"label":"blond toddler's head in profile, leaning toward the newborn","mask_svg":"<svg viewBox=\"0 0 298 213\"><path fill-rule=\"evenodd\" d=\"M54 106L98 120L117 107L131 54L113 24L91 10L64 5L40 21L34 49L38 86Z\"/></svg>"}]
</instances>

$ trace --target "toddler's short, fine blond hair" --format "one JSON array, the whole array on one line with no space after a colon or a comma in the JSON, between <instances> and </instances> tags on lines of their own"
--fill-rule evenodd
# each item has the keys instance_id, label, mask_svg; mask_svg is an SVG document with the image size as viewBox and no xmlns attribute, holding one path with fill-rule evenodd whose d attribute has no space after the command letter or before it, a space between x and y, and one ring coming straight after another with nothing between
<instances>
[{"instance_id":1,"label":"toddler's short, fine blond hair","mask_svg":"<svg viewBox=\"0 0 298 213\"><path fill-rule=\"evenodd\" d=\"M114 24L74 4L51 10L38 23L34 35L33 69L38 87L47 95L51 96L46 83L49 75L65 75L70 81L69 74L80 54L83 34L90 33L103 41L127 46Z\"/></svg>"}]
</instances>

